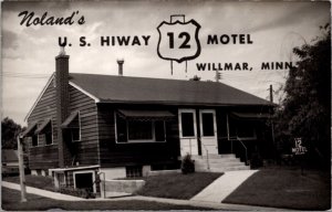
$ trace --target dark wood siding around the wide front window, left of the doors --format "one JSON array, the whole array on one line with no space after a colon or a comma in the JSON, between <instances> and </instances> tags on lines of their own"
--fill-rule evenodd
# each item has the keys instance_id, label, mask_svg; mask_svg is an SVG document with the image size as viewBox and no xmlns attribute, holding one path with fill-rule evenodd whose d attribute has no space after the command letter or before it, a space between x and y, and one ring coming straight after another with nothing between
<instances>
[{"instance_id":1,"label":"dark wood siding around the wide front window, left of the doors","mask_svg":"<svg viewBox=\"0 0 332 212\"><path fill-rule=\"evenodd\" d=\"M121 107L124 108L124 107ZM132 106L134 108L134 106ZM135 107L138 108L139 107ZM146 107L144 107L146 108ZM157 108L163 109L163 108ZM177 115L177 109L164 108ZM111 105L98 106L98 130L102 167L173 163L179 156L177 116L166 123L166 142L116 144L114 112Z\"/></svg>"}]
</instances>

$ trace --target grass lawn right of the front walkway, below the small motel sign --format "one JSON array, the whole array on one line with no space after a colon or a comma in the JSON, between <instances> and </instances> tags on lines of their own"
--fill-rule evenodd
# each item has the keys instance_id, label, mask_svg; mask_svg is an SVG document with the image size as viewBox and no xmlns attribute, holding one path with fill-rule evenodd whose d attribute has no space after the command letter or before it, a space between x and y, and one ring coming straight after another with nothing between
<instances>
[{"instance_id":1,"label":"grass lawn right of the front walkway, below the small motel sign","mask_svg":"<svg viewBox=\"0 0 332 212\"><path fill-rule=\"evenodd\" d=\"M314 170L262 169L251 176L224 203L298 210L331 206L331 174Z\"/></svg>"}]
</instances>

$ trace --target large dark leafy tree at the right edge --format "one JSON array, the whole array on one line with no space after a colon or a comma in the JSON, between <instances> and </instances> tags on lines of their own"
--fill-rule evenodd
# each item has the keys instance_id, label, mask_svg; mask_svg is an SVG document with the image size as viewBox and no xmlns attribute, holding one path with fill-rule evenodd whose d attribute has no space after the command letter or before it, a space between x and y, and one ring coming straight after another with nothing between
<instances>
[{"instance_id":1,"label":"large dark leafy tree at the right edge","mask_svg":"<svg viewBox=\"0 0 332 212\"><path fill-rule=\"evenodd\" d=\"M276 113L276 139L290 149L301 137L309 151L330 158L331 26L321 26L313 44L293 49L300 61L286 82L286 98ZM284 150L284 149L283 149ZM329 160L330 161L330 160Z\"/></svg>"}]
</instances>

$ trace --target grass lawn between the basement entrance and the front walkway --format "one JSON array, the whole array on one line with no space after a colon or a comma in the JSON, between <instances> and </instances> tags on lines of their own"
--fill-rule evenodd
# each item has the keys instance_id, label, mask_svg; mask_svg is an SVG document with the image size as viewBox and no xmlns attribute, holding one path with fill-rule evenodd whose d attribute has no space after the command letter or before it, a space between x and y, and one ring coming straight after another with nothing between
<instances>
[{"instance_id":1,"label":"grass lawn between the basement entrance and the front walkway","mask_svg":"<svg viewBox=\"0 0 332 212\"><path fill-rule=\"evenodd\" d=\"M222 173L196 172L169 173L144 178L146 184L137 191L139 195L189 200L219 178Z\"/></svg>"}]
</instances>

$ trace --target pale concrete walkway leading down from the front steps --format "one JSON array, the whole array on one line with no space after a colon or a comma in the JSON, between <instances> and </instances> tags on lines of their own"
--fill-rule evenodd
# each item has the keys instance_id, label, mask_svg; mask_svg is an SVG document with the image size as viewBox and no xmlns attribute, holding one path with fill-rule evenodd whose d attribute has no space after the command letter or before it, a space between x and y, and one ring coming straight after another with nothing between
<instances>
[{"instance_id":1,"label":"pale concrete walkway leading down from the front steps","mask_svg":"<svg viewBox=\"0 0 332 212\"><path fill-rule=\"evenodd\" d=\"M191 200L221 203L225 198L234 192L255 172L257 172L257 170L226 171L211 184L191 198Z\"/></svg>"}]
</instances>

